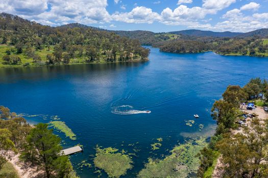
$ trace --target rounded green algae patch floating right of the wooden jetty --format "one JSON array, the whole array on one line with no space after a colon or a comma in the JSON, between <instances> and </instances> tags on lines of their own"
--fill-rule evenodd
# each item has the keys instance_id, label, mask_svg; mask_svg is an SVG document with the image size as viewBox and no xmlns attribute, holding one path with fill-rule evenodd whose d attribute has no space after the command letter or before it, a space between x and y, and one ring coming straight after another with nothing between
<instances>
[{"instance_id":1,"label":"rounded green algae patch floating right of the wooden jetty","mask_svg":"<svg viewBox=\"0 0 268 178\"><path fill-rule=\"evenodd\" d=\"M109 177L120 177L125 175L128 169L132 169L132 160L129 155L118 152L118 149L108 147L101 149L96 146L94 165L103 169Z\"/></svg>"}]
</instances>

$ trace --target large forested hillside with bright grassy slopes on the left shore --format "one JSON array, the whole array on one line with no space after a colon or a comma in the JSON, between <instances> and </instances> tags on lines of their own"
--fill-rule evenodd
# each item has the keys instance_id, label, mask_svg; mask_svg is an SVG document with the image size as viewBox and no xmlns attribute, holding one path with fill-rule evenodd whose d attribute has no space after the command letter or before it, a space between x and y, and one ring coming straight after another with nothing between
<instances>
[{"instance_id":1,"label":"large forested hillside with bright grassy slopes on the left shore","mask_svg":"<svg viewBox=\"0 0 268 178\"><path fill-rule=\"evenodd\" d=\"M0 14L0 66L147 60L138 40L83 25L51 27Z\"/></svg>"}]
</instances>

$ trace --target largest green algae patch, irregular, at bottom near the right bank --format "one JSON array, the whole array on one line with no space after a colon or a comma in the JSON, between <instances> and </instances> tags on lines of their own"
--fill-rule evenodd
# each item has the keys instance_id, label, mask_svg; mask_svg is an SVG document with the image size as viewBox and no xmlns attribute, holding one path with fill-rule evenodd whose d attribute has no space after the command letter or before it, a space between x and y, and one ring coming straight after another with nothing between
<instances>
[{"instance_id":1,"label":"largest green algae patch, irregular, at bottom near the right bank","mask_svg":"<svg viewBox=\"0 0 268 178\"><path fill-rule=\"evenodd\" d=\"M140 170L138 177L180 177L186 178L198 171L200 160L198 153L206 145L205 139L189 140L177 145L164 159L148 159L145 168Z\"/></svg>"}]
</instances>

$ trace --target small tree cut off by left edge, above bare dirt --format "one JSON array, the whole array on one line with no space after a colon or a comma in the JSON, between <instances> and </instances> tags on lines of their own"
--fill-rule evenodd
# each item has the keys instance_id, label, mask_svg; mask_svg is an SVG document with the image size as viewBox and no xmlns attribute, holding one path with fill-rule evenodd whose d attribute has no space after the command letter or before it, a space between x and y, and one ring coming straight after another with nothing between
<instances>
[{"instance_id":1,"label":"small tree cut off by left edge, above bare dirt","mask_svg":"<svg viewBox=\"0 0 268 178\"><path fill-rule=\"evenodd\" d=\"M7 157L10 155L7 153L9 150L15 150L14 143L10 140L11 132L8 129L0 129L0 170L6 164Z\"/></svg>"}]
</instances>

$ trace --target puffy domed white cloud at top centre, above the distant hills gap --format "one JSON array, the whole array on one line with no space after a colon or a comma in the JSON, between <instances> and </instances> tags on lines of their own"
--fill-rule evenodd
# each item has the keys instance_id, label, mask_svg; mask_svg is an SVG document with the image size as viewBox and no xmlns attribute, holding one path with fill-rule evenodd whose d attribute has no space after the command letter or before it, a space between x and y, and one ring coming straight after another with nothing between
<instances>
[{"instance_id":1,"label":"puffy domed white cloud at top centre, above the distant hills gap","mask_svg":"<svg viewBox=\"0 0 268 178\"><path fill-rule=\"evenodd\" d=\"M134 8L128 13L114 13L112 19L126 23L153 23L160 20L160 15L153 12L152 9L143 6Z\"/></svg>"}]
</instances>

